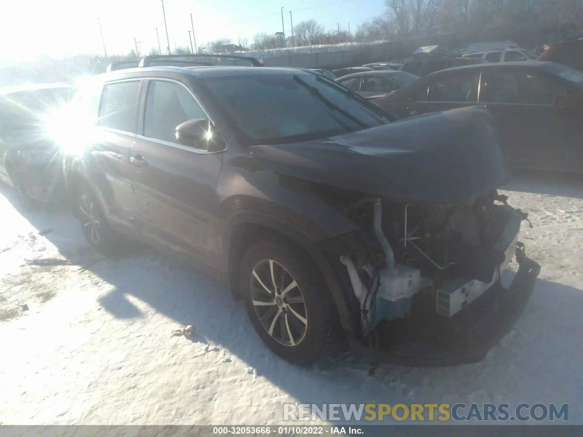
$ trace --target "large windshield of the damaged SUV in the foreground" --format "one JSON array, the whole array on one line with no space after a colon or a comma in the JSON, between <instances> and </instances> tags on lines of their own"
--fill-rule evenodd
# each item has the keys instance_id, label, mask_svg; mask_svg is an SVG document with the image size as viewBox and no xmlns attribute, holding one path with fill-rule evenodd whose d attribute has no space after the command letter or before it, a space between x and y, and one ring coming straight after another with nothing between
<instances>
[{"instance_id":1,"label":"large windshield of the damaged SUV in the foreground","mask_svg":"<svg viewBox=\"0 0 583 437\"><path fill-rule=\"evenodd\" d=\"M388 122L321 76L226 76L202 82L248 145L326 138Z\"/></svg>"}]
</instances>

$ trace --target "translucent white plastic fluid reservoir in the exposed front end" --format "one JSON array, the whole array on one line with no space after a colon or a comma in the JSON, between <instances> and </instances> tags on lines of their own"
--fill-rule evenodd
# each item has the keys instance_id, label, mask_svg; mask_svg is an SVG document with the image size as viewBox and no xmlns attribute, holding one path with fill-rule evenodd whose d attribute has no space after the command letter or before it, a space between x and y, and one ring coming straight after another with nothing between
<instances>
[{"instance_id":1,"label":"translucent white plastic fluid reservoir in the exposed front end","mask_svg":"<svg viewBox=\"0 0 583 437\"><path fill-rule=\"evenodd\" d=\"M395 264L393 269L380 272L381 285L374 301L373 320L394 320L408 315L413 295L421 289L421 272L412 267Z\"/></svg>"}]
</instances>

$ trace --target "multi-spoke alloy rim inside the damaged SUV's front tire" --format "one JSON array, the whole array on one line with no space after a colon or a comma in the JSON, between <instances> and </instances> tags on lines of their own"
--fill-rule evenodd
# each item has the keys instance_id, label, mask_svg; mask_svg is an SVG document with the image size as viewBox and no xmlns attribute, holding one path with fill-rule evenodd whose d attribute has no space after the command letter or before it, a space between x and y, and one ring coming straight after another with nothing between
<instances>
[{"instance_id":1,"label":"multi-spoke alloy rim inside the damaged SUV's front tire","mask_svg":"<svg viewBox=\"0 0 583 437\"><path fill-rule=\"evenodd\" d=\"M273 340L297 346L305 337L308 315L304 297L290 272L272 259L259 261L251 274L255 313Z\"/></svg>"}]
</instances>

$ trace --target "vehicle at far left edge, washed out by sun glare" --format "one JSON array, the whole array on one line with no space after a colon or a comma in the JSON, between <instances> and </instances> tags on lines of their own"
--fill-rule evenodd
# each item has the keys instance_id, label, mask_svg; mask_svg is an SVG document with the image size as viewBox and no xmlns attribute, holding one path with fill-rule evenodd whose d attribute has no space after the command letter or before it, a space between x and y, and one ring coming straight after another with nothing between
<instances>
[{"instance_id":1,"label":"vehicle at far left edge, washed out by sun glare","mask_svg":"<svg viewBox=\"0 0 583 437\"><path fill-rule=\"evenodd\" d=\"M71 97L72 85L33 84L0 91L0 180L15 187L23 207L64 193L61 159L45 122Z\"/></svg>"}]
</instances>

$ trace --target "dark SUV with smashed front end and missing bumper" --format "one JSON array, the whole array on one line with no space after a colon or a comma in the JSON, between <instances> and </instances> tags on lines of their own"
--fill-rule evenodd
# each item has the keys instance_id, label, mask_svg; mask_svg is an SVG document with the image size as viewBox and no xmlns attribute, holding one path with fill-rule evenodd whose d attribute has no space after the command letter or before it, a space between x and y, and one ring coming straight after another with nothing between
<instances>
[{"instance_id":1,"label":"dark SUV with smashed front end and missing bumper","mask_svg":"<svg viewBox=\"0 0 583 437\"><path fill-rule=\"evenodd\" d=\"M497 193L488 112L394 122L326 77L259 65L146 57L80 89L64 170L90 244L134 237L202 263L296 364L347 346L482 360L540 271L517 241L525 214Z\"/></svg>"}]
</instances>

